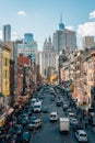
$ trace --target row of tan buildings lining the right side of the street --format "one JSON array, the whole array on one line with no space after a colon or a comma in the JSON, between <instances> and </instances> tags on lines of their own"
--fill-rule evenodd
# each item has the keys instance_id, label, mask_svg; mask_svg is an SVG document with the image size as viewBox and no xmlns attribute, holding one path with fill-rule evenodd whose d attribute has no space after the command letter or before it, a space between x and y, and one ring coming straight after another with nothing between
<instances>
[{"instance_id":1,"label":"row of tan buildings lining the right side of the street","mask_svg":"<svg viewBox=\"0 0 95 143\"><path fill-rule=\"evenodd\" d=\"M72 80L74 87L72 98L78 106L88 110L95 109L95 46L85 50L74 50L69 53L69 63L62 63L61 80Z\"/></svg>"}]
</instances>

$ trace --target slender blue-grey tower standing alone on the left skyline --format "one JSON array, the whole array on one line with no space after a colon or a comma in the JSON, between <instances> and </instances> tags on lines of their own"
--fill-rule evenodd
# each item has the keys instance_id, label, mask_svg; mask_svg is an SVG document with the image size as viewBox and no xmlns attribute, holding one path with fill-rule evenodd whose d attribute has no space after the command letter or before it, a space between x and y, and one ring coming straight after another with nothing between
<instances>
[{"instance_id":1,"label":"slender blue-grey tower standing alone on the left skyline","mask_svg":"<svg viewBox=\"0 0 95 143\"><path fill-rule=\"evenodd\" d=\"M11 42L11 25L3 25L3 42Z\"/></svg>"}]
</instances>

